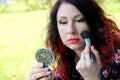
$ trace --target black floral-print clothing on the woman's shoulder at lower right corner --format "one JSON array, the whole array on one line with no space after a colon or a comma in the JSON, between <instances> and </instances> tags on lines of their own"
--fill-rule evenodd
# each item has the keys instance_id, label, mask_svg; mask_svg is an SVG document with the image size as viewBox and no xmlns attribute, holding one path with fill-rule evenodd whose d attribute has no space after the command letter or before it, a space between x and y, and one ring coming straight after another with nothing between
<instances>
[{"instance_id":1,"label":"black floral-print clothing on the woman's shoulder at lower right corner","mask_svg":"<svg viewBox=\"0 0 120 80\"><path fill-rule=\"evenodd\" d=\"M113 54L113 63L101 68L101 80L120 80L120 49Z\"/></svg>"}]
</instances>

